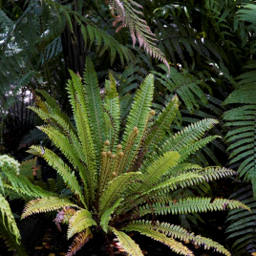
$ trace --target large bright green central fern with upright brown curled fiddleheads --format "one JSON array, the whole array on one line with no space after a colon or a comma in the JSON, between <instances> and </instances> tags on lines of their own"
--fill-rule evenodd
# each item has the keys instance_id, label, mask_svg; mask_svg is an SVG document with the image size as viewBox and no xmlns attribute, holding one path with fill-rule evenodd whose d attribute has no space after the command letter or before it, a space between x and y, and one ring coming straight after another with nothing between
<instances>
[{"instance_id":1,"label":"large bright green central fern with upright brown curled fiddleheads","mask_svg":"<svg viewBox=\"0 0 256 256\"><path fill-rule=\"evenodd\" d=\"M29 152L42 157L53 166L73 191L70 199L47 197L27 203L22 219L40 212L58 210L55 223L68 224L68 239L75 236L67 256L87 243L93 234L115 234L129 255L142 252L125 232L139 231L168 245L181 255L194 255L176 239L203 245L205 248L230 255L223 245L208 238L188 233L178 225L153 222L153 216L199 213L213 210L245 208L243 203L225 199L172 197L173 191L204 181L217 180L234 174L220 167L203 168L187 162L207 142L217 138L204 133L215 119L203 119L180 133L167 136L166 131L178 111L174 96L158 117L151 109L154 76L148 75L134 98L123 134L120 134L120 107L115 80L105 83L100 96L96 72L91 59L86 60L82 78L71 72L67 85L73 108L75 126L58 104L44 91L39 93L37 106L31 109L45 120L38 127L52 139L66 160L52 150L31 146Z\"/></svg>"}]
</instances>

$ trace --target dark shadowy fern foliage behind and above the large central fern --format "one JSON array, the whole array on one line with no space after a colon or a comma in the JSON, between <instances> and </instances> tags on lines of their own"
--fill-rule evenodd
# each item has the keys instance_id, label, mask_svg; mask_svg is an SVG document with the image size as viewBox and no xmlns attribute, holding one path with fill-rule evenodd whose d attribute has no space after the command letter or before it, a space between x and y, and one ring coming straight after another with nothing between
<instances>
[{"instance_id":1,"label":"dark shadowy fern foliage behind and above the large central fern","mask_svg":"<svg viewBox=\"0 0 256 256\"><path fill-rule=\"evenodd\" d=\"M35 141L49 143L44 134L32 130L40 122L25 110L32 104L33 90L46 90L62 111L70 115L64 90L68 69L82 74L86 57L90 56L101 88L108 70L117 80L122 120L140 82L150 72L155 75L157 86L154 97L157 113L166 103L165 98L174 95L180 98L181 115L172 129L181 130L182 126L203 117L217 118L220 122L213 132L224 140L214 140L203 147L201 153L192 156L191 161L204 166L229 165L250 191L245 193L242 187L241 195L238 191L235 197L244 203L246 200L254 203L255 2L137 1L143 10L133 8L142 11L144 16L135 12L133 22L142 18L155 33L155 47L165 56L160 53L159 58L147 54L146 47L133 46L131 28L123 27L115 32L113 22L117 22L117 17L114 18L112 12L117 16L117 2L109 1L107 5L103 0L0 1L0 150L21 160L25 155L23 149L18 149L19 144L22 148ZM138 39L138 34L136 36ZM165 64L164 59L167 60L169 70L160 59ZM17 137L12 140L13 135ZM247 182L251 186L247 187ZM210 193L209 187L202 190ZM243 221L243 218L247 220L246 214L239 218L246 225L242 224L240 231L227 229L231 238L228 245L236 255L240 251L249 255L256 250L252 239L256 235L254 222ZM233 235L230 232L234 232ZM232 246L232 243L236 244Z\"/></svg>"}]
</instances>

